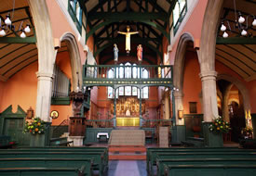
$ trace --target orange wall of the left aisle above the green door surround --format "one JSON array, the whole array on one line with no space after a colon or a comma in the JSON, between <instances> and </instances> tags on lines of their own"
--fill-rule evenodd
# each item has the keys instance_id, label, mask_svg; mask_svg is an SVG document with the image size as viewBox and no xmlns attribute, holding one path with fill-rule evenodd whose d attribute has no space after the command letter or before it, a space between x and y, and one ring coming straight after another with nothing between
<instances>
[{"instance_id":1,"label":"orange wall of the left aisle above the green door surround","mask_svg":"<svg viewBox=\"0 0 256 176\"><path fill-rule=\"evenodd\" d=\"M12 105L13 112L18 105L27 111L29 107L35 110L38 62L34 62L25 69L20 70L7 82L0 82L0 112Z\"/></svg>"}]
</instances>

